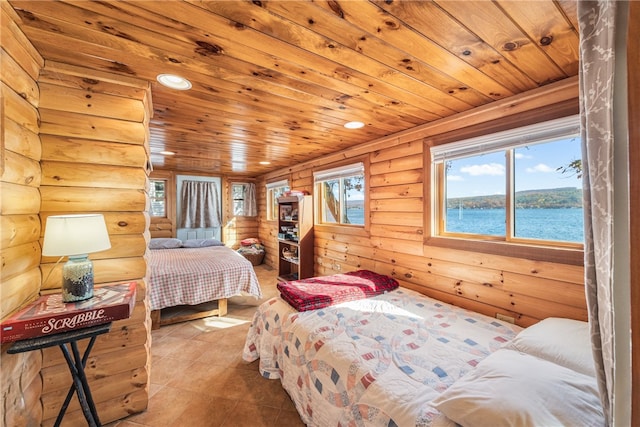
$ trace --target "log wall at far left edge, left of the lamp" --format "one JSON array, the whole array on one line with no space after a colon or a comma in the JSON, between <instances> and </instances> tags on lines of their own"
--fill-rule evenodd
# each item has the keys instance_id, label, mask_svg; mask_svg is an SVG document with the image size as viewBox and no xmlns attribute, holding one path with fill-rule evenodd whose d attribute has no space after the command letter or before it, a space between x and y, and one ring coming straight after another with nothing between
<instances>
[{"instance_id":1,"label":"log wall at far left edge, left of the lamp","mask_svg":"<svg viewBox=\"0 0 640 427\"><path fill-rule=\"evenodd\" d=\"M44 65L18 29L20 18L0 2L0 318L5 319L40 292L40 155L38 74ZM2 426L40 425L42 354L7 354L2 359Z\"/></svg>"}]
</instances>

